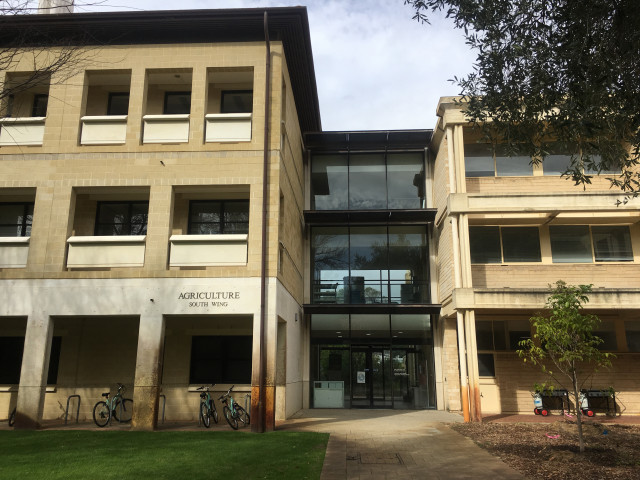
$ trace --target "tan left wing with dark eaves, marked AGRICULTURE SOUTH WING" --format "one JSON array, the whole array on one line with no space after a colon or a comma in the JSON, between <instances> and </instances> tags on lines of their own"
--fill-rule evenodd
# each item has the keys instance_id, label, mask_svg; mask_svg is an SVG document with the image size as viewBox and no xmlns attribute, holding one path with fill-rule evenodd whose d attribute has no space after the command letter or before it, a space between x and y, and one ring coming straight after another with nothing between
<instances>
[{"instance_id":1,"label":"tan left wing with dark eaves, marked AGRICULTURE SOUTH WING","mask_svg":"<svg viewBox=\"0 0 640 480\"><path fill-rule=\"evenodd\" d=\"M197 420L196 386L235 384L273 428L303 406L306 10L12 17L0 42L24 31L82 43L0 120L0 411L34 426L80 395L91 419L120 382L153 428L160 394Z\"/></svg>"}]
</instances>

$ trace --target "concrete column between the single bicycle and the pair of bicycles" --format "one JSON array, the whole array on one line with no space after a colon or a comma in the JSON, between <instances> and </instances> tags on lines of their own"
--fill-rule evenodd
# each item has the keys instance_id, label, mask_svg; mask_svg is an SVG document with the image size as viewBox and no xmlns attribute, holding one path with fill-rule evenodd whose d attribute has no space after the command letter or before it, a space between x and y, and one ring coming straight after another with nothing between
<instances>
[{"instance_id":1,"label":"concrete column between the single bicycle and the pair of bicycles","mask_svg":"<svg viewBox=\"0 0 640 480\"><path fill-rule=\"evenodd\" d=\"M136 375L133 386L132 427L134 430L153 430L158 424L164 327L165 320L161 314L147 313L140 316Z\"/></svg>"}]
</instances>

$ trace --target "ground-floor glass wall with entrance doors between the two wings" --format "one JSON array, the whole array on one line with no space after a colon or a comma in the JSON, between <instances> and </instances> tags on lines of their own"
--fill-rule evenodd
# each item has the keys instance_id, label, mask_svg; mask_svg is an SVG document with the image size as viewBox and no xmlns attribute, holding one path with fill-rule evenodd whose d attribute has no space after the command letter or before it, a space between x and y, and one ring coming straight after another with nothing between
<instances>
[{"instance_id":1,"label":"ground-floor glass wall with entrance doors between the two wings","mask_svg":"<svg viewBox=\"0 0 640 480\"><path fill-rule=\"evenodd\" d=\"M313 315L314 408L435 408L429 315Z\"/></svg>"}]
</instances>

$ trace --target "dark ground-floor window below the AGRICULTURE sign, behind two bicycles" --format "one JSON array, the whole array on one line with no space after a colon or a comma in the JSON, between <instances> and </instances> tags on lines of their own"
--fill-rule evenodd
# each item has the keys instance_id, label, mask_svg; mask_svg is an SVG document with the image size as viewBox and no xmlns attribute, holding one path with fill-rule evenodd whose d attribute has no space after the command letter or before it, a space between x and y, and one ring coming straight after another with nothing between
<instances>
[{"instance_id":1,"label":"dark ground-floor window below the AGRICULTURE sign, behind two bicycles","mask_svg":"<svg viewBox=\"0 0 640 480\"><path fill-rule=\"evenodd\" d=\"M252 356L251 335L194 336L189 383L251 384Z\"/></svg>"}]
</instances>

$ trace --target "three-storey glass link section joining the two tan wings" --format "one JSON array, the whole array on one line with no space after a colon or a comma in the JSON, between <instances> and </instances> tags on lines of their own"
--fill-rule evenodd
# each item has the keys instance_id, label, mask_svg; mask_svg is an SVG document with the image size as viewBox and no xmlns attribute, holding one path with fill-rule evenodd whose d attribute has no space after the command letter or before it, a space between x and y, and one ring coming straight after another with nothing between
<instances>
[{"instance_id":1,"label":"three-storey glass link section joining the two tan wings","mask_svg":"<svg viewBox=\"0 0 640 480\"><path fill-rule=\"evenodd\" d=\"M438 404L430 140L426 130L305 135L311 407Z\"/></svg>"}]
</instances>

